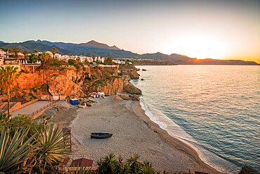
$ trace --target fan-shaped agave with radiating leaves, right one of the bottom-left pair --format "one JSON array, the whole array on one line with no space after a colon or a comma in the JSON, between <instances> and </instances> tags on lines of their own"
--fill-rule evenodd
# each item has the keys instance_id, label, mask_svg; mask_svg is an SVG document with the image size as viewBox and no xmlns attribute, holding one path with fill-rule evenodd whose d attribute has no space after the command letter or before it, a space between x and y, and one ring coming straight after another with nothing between
<instances>
[{"instance_id":1,"label":"fan-shaped agave with radiating leaves, right one of the bottom-left pair","mask_svg":"<svg viewBox=\"0 0 260 174\"><path fill-rule=\"evenodd\" d=\"M37 172L55 171L55 166L68 154L67 145L64 144L63 132L60 128L54 128L54 125L51 124L46 131L39 133L37 142L39 142L39 149L36 153Z\"/></svg>"}]
</instances>

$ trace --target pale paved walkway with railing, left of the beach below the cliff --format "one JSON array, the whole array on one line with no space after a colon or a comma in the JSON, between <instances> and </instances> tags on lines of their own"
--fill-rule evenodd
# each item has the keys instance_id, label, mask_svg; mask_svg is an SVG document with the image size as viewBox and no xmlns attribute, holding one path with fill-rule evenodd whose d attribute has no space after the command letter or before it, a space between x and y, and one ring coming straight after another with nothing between
<instances>
[{"instance_id":1,"label":"pale paved walkway with railing, left of the beach below the cliff","mask_svg":"<svg viewBox=\"0 0 260 174\"><path fill-rule=\"evenodd\" d=\"M53 104L53 101L37 101L33 104L30 104L29 106L25 106L24 108L20 108L17 111L14 111L11 113L12 117L16 117L18 115L29 115L32 116L39 111L42 111L42 109L50 106Z\"/></svg>"}]
</instances>

